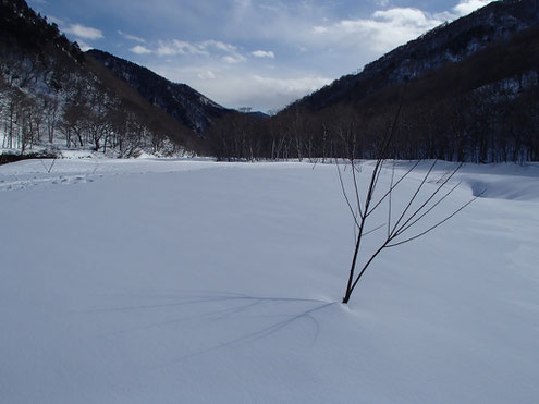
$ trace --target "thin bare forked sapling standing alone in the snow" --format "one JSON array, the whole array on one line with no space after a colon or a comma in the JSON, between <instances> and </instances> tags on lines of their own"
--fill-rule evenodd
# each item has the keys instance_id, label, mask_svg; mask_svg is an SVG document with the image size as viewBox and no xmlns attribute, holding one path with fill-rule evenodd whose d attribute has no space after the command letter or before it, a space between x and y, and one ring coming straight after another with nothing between
<instances>
[{"instance_id":1,"label":"thin bare forked sapling standing alone in the snow","mask_svg":"<svg viewBox=\"0 0 539 404\"><path fill-rule=\"evenodd\" d=\"M345 182L343 179L343 172L339 162L336 164L339 179L341 182L341 188L350 208L350 211L354 218L354 225L357 229L356 243L354 248L354 255L352 258L352 265L350 268L348 280L346 283L346 290L342 303L347 304L352 292L356 287L359 279L365 273L367 268L372 264L372 261L387 248L396 247L408 243L413 240L419 238L432 230L446 222L449 219L454 217L469 204L471 204L477 197L474 197L466 204L460 206L457 209L452 211L450 215L443 216L442 218L434 218L433 222L430 222L425 227L426 218L428 218L434 210L442 204L460 185L456 183L450 186L450 181L454 177L455 173L461 169L462 163L458 164L454 170L444 173L441 176L433 179L433 170L437 164L437 160L433 160L427 169L427 172L422 175L419 184L415 188L414 193L404 203L404 207L399 211L394 211L393 195L395 189L403 184L403 181L409 176L419 166L421 160L417 160L412 167L405 171L400 177L395 179L395 168L394 162L391 170L391 181L387 188L380 191L380 175L382 170L389 166L389 150L393 142L395 126L399 119L401 107L395 115L393 124L384 136L381 144L378 158L375 160L375 166L366 192L360 192L359 176L363 175L362 168L355 162L354 157L350 159L351 166L351 176L352 176L352 195L348 196L350 192L346 191ZM426 184L434 184L433 188L426 189ZM370 224L372 215L376 211L387 208L385 220L387 223L371 228L367 231L367 224ZM420 227L424 224L424 227ZM366 253L364 257L364 264L357 267L358 256L363 253L364 240L370 233L385 229L385 235L381 238L380 243L375 247L373 250Z\"/></svg>"}]
</instances>

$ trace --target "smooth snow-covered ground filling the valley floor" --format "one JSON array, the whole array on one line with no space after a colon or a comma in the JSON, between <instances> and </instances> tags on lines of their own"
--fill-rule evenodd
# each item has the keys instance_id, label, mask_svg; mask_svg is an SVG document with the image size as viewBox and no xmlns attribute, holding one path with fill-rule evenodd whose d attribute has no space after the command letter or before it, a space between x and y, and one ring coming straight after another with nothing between
<instances>
[{"instance_id":1,"label":"smooth snow-covered ground filling the valley floor","mask_svg":"<svg viewBox=\"0 0 539 404\"><path fill-rule=\"evenodd\" d=\"M0 167L1 403L539 401L537 164L462 169L348 307L335 166L50 164Z\"/></svg>"}]
</instances>

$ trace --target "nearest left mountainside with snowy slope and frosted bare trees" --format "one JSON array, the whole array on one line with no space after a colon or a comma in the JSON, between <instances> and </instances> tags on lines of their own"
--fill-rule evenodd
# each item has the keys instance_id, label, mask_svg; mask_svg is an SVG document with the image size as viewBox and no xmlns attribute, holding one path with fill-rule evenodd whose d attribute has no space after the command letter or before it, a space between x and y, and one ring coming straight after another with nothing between
<instances>
[{"instance_id":1,"label":"nearest left mountainside with snowy slope and frosted bare trees","mask_svg":"<svg viewBox=\"0 0 539 404\"><path fill-rule=\"evenodd\" d=\"M21 155L58 147L120 157L207 152L191 125L148 102L23 0L0 0L0 143Z\"/></svg>"}]
</instances>

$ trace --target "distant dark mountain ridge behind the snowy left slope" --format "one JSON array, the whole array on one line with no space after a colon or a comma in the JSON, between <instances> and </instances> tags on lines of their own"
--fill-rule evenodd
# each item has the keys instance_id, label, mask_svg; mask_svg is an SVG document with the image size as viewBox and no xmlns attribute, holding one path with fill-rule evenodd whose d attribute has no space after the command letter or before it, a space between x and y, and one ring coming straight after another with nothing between
<instances>
[{"instance_id":1,"label":"distant dark mountain ridge behind the snowy left slope","mask_svg":"<svg viewBox=\"0 0 539 404\"><path fill-rule=\"evenodd\" d=\"M97 49L89 50L86 54L102 62L146 100L198 134L207 130L215 119L231 112L186 84L172 83L127 60Z\"/></svg>"}]
</instances>

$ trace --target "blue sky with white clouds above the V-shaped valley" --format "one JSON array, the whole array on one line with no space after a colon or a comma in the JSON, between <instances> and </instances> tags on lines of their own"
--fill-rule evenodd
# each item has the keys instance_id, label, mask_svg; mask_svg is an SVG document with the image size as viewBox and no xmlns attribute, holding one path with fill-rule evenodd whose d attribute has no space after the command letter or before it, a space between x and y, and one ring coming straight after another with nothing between
<instances>
[{"instance_id":1,"label":"blue sky with white clouds above the V-shaped valley","mask_svg":"<svg viewBox=\"0 0 539 404\"><path fill-rule=\"evenodd\" d=\"M268 111L490 0L29 0L83 49Z\"/></svg>"}]
</instances>

